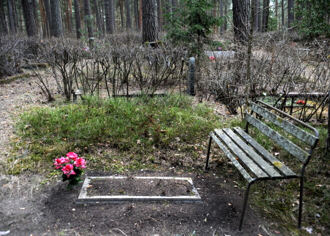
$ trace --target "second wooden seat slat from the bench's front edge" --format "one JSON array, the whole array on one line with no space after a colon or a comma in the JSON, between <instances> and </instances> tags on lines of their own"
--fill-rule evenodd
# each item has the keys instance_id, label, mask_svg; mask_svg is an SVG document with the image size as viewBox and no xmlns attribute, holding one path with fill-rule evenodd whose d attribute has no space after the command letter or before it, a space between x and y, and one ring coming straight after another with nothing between
<instances>
[{"instance_id":1,"label":"second wooden seat slat from the bench's front edge","mask_svg":"<svg viewBox=\"0 0 330 236\"><path fill-rule=\"evenodd\" d=\"M231 139L220 129L214 129L216 135L222 140L222 142L232 151L241 162L245 164L247 169L249 169L258 179L269 178L268 175L262 171L245 153L236 146L236 144L231 141Z\"/></svg>"}]
</instances>

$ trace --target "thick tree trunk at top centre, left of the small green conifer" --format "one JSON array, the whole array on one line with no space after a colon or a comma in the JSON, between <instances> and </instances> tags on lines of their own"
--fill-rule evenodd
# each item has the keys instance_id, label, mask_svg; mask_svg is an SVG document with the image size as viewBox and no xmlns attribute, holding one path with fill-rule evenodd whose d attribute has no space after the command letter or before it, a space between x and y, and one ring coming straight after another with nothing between
<instances>
[{"instance_id":1,"label":"thick tree trunk at top centre, left of the small green conifer","mask_svg":"<svg viewBox=\"0 0 330 236\"><path fill-rule=\"evenodd\" d=\"M155 0L142 0L142 38L143 43L158 41Z\"/></svg>"}]
</instances>

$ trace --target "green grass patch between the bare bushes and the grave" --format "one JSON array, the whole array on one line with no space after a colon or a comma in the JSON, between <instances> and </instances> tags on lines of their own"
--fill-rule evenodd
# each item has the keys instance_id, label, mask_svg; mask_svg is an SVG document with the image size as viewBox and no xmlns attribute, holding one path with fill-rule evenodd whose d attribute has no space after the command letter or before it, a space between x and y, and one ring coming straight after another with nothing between
<instances>
[{"instance_id":1,"label":"green grass patch between the bare bushes and the grave","mask_svg":"<svg viewBox=\"0 0 330 236\"><path fill-rule=\"evenodd\" d=\"M188 147L196 140L207 139L208 132L219 125L219 118L211 108L202 103L193 104L191 97L182 95L130 99L84 97L76 105L34 107L16 118L17 136L21 137L15 140L16 151L28 155L17 154L8 159L6 170L9 173L42 170L42 163L48 163L45 168L49 168L54 158L72 150L79 155L88 154L90 157L87 155L86 159L95 161L94 153L102 148L115 148L119 153L129 151L136 157L130 158L131 167L140 168L138 158L142 155L154 149ZM195 151L193 148L185 151L189 150ZM112 161L108 163L116 165ZM94 166L98 164L95 161Z\"/></svg>"}]
</instances>

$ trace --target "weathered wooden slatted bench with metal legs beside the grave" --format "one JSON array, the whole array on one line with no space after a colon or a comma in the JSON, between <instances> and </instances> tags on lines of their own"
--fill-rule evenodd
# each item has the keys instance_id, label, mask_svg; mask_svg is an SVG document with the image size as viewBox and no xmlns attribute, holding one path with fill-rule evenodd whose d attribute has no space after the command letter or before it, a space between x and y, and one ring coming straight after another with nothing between
<instances>
[{"instance_id":1,"label":"weathered wooden slatted bench with metal legs beside the grave","mask_svg":"<svg viewBox=\"0 0 330 236\"><path fill-rule=\"evenodd\" d=\"M311 157L313 148L318 142L318 131L313 127L295 119L294 117L259 100L257 100L255 103L250 102L249 108L251 109L251 113L247 113L245 116L245 120L247 122L245 130L239 127L235 127L232 129L214 129L213 132L209 133L210 139L208 143L205 171L208 171L208 159L211 141L214 140L247 181L243 208L238 226L239 232L242 232L241 227L251 184L256 181L269 179L300 178L298 228L301 228L304 172ZM273 112L277 112L283 118L275 115ZM256 114L257 118L253 116L253 113ZM260 119L261 117L262 119ZM265 124L265 120L275 124L286 133L288 133L288 135L294 136L301 140L303 143L305 143L306 146L309 147L309 151L306 152L304 149L298 147L296 144L292 143L273 129L269 128ZM300 124L302 127L310 129L314 134L310 134L302 130L296 125L289 123L287 120L294 121ZM275 156L273 156L259 143L257 143L251 136L249 136L247 132L248 126L250 124L254 126L257 131L262 132L268 138L276 142L289 154L296 157L299 162L301 162L301 168L299 166L300 173L295 173L294 171L290 170Z\"/></svg>"}]
</instances>

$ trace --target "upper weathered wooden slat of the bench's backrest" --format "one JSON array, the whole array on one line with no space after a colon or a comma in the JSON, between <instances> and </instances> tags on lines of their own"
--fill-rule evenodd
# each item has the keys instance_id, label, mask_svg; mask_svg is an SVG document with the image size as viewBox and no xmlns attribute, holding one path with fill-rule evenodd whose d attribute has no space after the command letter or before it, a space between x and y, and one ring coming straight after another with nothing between
<instances>
[{"instance_id":1,"label":"upper weathered wooden slat of the bench's backrest","mask_svg":"<svg viewBox=\"0 0 330 236\"><path fill-rule=\"evenodd\" d=\"M256 105L253 102L250 102L250 109L252 109L254 112L259 114L260 116L266 118L270 122L274 123L278 127L282 128L286 132L290 133L294 137L300 139L302 142L314 146L315 142L317 142L318 138L316 138L314 135L296 127L295 125L287 122L286 120L282 119L279 116L276 116L274 113L271 113L264 109L263 107Z\"/></svg>"}]
</instances>

